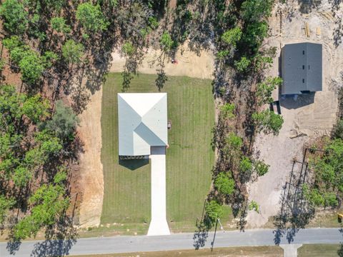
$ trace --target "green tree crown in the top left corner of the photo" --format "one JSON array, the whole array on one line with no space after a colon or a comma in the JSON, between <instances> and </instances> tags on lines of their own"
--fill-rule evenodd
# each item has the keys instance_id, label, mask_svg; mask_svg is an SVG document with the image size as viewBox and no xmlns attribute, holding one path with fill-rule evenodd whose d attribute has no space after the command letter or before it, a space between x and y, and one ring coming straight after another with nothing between
<instances>
[{"instance_id":1,"label":"green tree crown in the top left corner of the photo","mask_svg":"<svg viewBox=\"0 0 343 257\"><path fill-rule=\"evenodd\" d=\"M0 6L0 15L4 19L5 29L11 34L23 34L29 23L29 15L18 0L5 0Z\"/></svg>"}]
</instances>

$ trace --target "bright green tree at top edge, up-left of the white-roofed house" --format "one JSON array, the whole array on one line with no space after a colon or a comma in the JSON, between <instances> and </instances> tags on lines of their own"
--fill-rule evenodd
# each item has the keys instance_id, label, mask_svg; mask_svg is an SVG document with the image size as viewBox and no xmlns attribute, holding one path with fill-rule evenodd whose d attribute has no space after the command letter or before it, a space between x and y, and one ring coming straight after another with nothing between
<instances>
[{"instance_id":1,"label":"bright green tree at top edge, up-left of the white-roofed house","mask_svg":"<svg viewBox=\"0 0 343 257\"><path fill-rule=\"evenodd\" d=\"M109 22L106 21L99 5L94 6L91 2L79 4L76 10L76 19L86 30L86 33L106 31Z\"/></svg>"}]
</instances>

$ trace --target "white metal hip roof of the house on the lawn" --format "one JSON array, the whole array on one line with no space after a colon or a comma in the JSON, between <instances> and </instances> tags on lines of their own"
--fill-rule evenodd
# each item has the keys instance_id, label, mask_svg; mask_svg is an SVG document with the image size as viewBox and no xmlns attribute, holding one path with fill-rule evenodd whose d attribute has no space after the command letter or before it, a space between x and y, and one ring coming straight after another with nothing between
<instances>
[{"instance_id":1,"label":"white metal hip roof of the house on the lawn","mask_svg":"<svg viewBox=\"0 0 343 257\"><path fill-rule=\"evenodd\" d=\"M166 146L166 93L118 94L119 156L150 155Z\"/></svg>"}]
</instances>

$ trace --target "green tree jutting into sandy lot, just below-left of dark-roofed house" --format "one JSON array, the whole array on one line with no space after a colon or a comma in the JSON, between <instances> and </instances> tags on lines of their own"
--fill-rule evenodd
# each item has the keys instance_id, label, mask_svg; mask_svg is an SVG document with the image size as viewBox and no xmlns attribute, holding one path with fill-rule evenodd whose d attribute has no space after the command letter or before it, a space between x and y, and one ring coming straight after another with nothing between
<instances>
[{"instance_id":1,"label":"green tree jutting into sandy lot, just below-left of dark-roofed house","mask_svg":"<svg viewBox=\"0 0 343 257\"><path fill-rule=\"evenodd\" d=\"M274 114L274 111L268 109L261 112L255 112L252 114L254 120L254 126L257 131L264 131L264 133L274 133L277 135L282 128L284 119L282 116Z\"/></svg>"}]
</instances>

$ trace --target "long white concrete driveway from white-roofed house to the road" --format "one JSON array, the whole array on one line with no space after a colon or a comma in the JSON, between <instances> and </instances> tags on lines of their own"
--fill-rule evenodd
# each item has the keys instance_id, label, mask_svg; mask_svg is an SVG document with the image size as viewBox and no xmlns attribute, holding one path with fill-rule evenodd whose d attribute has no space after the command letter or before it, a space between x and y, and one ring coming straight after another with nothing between
<instances>
[{"instance_id":1,"label":"long white concrete driveway from white-roofed house to the road","mask_svg":"<svg viewBox=\"0 0 343 257\"><path fill-rule=\"evenodd\" d=\"M151 147L151 222L148 236L170 235L166 223L165 148Z\"/></svg>"}]
</instances>

